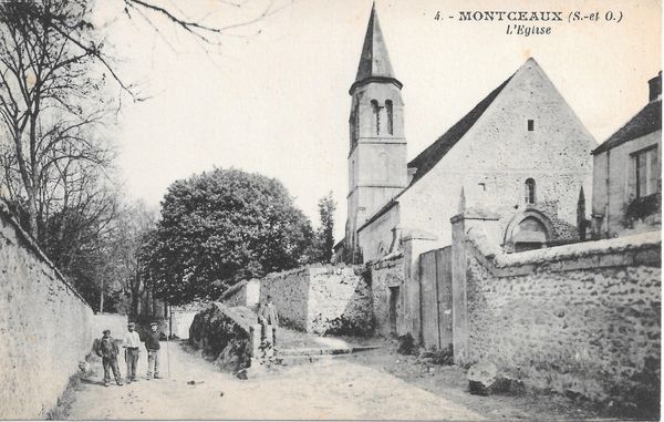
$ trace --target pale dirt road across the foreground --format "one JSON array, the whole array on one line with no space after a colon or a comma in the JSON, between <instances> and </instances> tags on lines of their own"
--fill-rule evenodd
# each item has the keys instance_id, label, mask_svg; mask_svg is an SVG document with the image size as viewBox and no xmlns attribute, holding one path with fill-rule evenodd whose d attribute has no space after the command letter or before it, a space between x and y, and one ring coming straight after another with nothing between
<instances>
[{"instance_id":1,"label":"pale dirt road across the foreground","mask_svg":"<svg viewBox=\"0 0 664 422\"><path fill-rule=\"evenodd\" d=\"M105 388L101 364L93 362L94 374L76 392L69 419L481 419L461 404L347 359L288 367L242 381L177 343L169 344L168 374L162 344L162 380ZM142 353L142 374L146 366Z\"/></svg>"}]
</instances>

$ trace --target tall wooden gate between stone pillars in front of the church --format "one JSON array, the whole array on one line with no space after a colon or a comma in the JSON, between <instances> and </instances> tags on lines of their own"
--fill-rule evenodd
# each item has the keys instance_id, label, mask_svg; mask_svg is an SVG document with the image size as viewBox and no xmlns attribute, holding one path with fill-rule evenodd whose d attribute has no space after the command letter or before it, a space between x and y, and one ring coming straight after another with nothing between
<instances>
[{"instance_id":1,"label":"tall wooden gate between stone pillars in front of the church","mask_svg":"<svg viewBox=\"0 0 664 422\"><path fill-rule=\"evenodd\" d=\"M422 343L427 349L452 344L452 247L419 256Z\"/></svg>"}]
</instances>

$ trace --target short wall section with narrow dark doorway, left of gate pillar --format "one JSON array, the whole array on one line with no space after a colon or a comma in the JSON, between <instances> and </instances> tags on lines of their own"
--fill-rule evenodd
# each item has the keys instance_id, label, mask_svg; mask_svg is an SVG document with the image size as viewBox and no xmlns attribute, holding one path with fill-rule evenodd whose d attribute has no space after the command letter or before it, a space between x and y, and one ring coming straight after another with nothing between
<instances>
[{"instance_id":1,"label":"short wall section with narrow dark doorway, left of gate pillar","mask_svg":"<svg viewBox=\"0 0 664 422\"><path fill-rule=\"evenodd\" d=\"M376 333L387 337L403 333L403 291L404 291L404 257L395 254L369 264L371 270L372 309ZM393 297L396 295L396 297ZM390 306L394 305L393 320L390 317Z\"/></svg>"}]
</instances>

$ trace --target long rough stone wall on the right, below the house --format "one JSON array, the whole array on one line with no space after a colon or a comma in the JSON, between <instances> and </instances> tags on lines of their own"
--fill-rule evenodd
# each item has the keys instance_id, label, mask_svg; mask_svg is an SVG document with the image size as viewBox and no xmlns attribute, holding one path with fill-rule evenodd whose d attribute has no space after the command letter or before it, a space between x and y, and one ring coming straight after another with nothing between
<instances>
[{"instance_id":1,"label":"long rough stone wall on the right, below the house","mask_svg":"<svg viewBox=\"0 0 664 422\"><path fill-rule=\"evenodd\" d=\"M470 229L461 254L459 363L490 361L529 385L658 409L661 233L505 255Z\"/></svg>"}]
</instances>

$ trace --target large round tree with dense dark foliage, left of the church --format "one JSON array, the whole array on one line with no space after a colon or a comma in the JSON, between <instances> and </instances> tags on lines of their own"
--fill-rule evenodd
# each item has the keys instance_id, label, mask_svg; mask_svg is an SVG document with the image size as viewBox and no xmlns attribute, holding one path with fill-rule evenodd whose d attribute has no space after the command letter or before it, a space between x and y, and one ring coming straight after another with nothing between
<instances>
[{"instance_id":1,"label":"large round tree with dense dark foliage, left of the church","mask_svg":"<svg viewBox=\"0 0 664 422\"><path fill-rule=\"evenodd\" d=\"M172 305L217 298L242 279L298 266L311 237L279 181L217 168L169 186L145 271Z\"/></svg>"}]
</instances>

